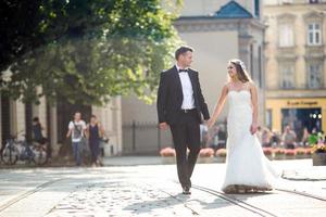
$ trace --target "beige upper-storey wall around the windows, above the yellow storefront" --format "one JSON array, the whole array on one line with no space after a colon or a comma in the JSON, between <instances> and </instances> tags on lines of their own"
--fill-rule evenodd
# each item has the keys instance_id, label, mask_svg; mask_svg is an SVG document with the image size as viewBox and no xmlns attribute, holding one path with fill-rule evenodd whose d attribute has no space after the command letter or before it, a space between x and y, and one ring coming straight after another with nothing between
<instances>
[{"instance_id":1,"label":"beige upper-storey wall around the windows, above the yellow storefront","mask_svg":"<svg viewBox=\"0 0 326 217\"><path fill-rule=\"evenodd\" d=\"M322 9L324 8L324 10ZM290 10L289 10L290 9ZM268 28L266 29L266 79L267 89L278 89L280 75L278 63L283 59L292 59L296 63L296 88L304 89L306 86L306 21L310 16L310 13L314 11L313 14L315 17L323 17L323 29L326 29L326 20L325 13L322 11L326 10L326 4L317 5L317 4L298 4L298 5L278 5L278 7L266 7L265 8L265 20L267 22ZM290 12L289 12L290 11ZM288 16L288 18L286 17ZM279 48L278 40L278 27L283 21L293 24L294 29L294 46L292 48ZM323 44L326 41L326 34L322 34ZM325 46L323 46L325 47ZM323 53L325 54L325 48L323 49ZM325 66L324 66L324 75L325 75ZM324 84L325 77L323 76Z\"/></svg>"}]
</instances>

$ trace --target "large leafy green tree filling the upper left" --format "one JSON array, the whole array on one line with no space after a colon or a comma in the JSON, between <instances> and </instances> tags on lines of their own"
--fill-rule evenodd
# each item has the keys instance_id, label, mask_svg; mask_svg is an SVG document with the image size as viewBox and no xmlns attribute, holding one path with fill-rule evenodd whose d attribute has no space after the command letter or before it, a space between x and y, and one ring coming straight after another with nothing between
<instances>
[{"instance_id":1,"label":"large leafy green tree filling the upper left","mask_svg":"<svg viewBox=\"0 0 326 217\"><path fill-rule=\"evenodd\" d=\"M175 16L160 0L7 0L4 5L0 69L10 67L10 75L2 76L1 92L27 102L46 95L101 104L129 92L149 102L178 43Z\"/></svg>"}]
</instances>

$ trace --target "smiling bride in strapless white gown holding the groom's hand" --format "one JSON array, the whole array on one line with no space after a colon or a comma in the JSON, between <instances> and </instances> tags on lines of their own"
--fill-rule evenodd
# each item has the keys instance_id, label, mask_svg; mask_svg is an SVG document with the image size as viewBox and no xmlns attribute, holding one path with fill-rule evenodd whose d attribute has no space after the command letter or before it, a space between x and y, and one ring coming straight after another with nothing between
<instances>
[{"instance_id":1,"label":"smiling bride in strapless white gown holding the groom's hand","mask_svg":"<svg viewBox=\"0 0 326 217\"><path fill-rule=\"evenodd\" d=\"M213 116L208 122L209 127L214 125L227 99L227 157L222 190L225 193L269 191L276 174L255 136L258 90L242 61L229 61L227 71L229 81L223 87Z\"/></svg>"}]
</instances>

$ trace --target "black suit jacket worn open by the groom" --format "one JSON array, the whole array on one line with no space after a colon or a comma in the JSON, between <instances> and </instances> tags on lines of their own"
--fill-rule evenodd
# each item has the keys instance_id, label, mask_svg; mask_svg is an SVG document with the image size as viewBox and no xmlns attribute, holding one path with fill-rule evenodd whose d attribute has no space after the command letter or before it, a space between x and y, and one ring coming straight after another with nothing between
<instances>
[{"instance_id":1,"label":"black suit jacket worn open by the groom","mask_svg":"<svg viewBox=\"0 0 326 217\"><path fill-rule=\"evenodd\" d=\"M192 85L195 105L198 114L198 122L210 118L208 105L201 92L198 72L188 69L188 75ZM159 123L168 125L178 124L178 116L181 112L184 101L181 81L176 66L162 72L158 92L158 116Z\"/></svg>"}]
</instances>

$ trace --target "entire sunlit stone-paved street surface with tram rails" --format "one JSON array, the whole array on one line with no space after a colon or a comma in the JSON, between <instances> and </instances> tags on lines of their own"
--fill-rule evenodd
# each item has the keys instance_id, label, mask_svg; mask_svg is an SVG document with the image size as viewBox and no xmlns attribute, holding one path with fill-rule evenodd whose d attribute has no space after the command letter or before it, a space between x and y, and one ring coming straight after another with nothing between
<instances>
[{"instance_id":1,"label":"entire sunlit stone-paved street surface with tram rails","mask_svg":"<svg viewBox=\"0 0 326 217\"><path fill-rule=\"evenodd\" d=\"M199 164L190 196L180 193L175 165L1 170L0 216L319 217L326 213L326 167L312 167L308 161L273 165L286 178L276 190L225 195L218 189L225 165Z\"/></svg>"}]
</instances>

